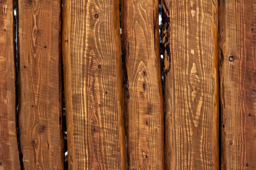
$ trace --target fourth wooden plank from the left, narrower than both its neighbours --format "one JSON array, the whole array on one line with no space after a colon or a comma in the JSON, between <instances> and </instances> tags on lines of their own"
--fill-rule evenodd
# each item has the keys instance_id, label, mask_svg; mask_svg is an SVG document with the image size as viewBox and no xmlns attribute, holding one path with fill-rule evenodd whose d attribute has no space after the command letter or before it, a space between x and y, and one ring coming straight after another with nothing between
<instances>
[{"instance_id":1,"label":"fourth wooden plank from the left, narrower than both its neighbours","mask_svg":"<svg viewBox=\"0 0 256 170\"><path fill-rule=\"evenodd\" d=\"M165 169L158 0L122 0L128 168Z\"/></svg>"}]
</instances>

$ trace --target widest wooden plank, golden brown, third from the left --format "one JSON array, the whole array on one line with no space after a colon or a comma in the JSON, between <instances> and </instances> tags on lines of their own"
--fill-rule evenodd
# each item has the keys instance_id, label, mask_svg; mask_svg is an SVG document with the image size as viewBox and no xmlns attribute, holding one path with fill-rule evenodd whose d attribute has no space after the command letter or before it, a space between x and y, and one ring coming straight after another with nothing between
<instances>
[{"instance_id":1,"label":"widest wooden plank, golden brown, third from the left","mask_svg":"<svg viewBox=\"0 0 256 170\"><path fill-rule=\"evenodd\" d=\"M70 170L125 170L119 0L66 0L63 54Z\"/></svg>"}]
</instances>

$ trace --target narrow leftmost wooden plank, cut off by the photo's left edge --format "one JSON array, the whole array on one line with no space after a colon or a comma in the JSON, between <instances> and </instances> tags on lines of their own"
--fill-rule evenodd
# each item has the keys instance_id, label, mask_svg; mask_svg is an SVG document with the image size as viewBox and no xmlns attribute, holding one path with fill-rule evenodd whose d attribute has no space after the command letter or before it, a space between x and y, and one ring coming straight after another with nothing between
<instances>
[{"instance_id":1,"label":"narrow leftmost wooden plank, cut off by the photo's left edge","mask_svg":"<svg viewBox=\"0 0 256 170\"><path fill-rule=\"evenodd\" d=\"M12 0L0 1L0 170L20 169Z\"/></svg>"}]
</instances>

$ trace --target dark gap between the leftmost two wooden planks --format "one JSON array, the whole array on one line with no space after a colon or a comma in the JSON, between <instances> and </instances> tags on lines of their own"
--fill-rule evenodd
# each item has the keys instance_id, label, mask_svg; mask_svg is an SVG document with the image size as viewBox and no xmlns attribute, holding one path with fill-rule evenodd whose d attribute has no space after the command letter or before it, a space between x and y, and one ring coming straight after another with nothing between
<instances>
[{"instance_id":1,"label":"dark gap between the leftmost two wooden planks","mask_svg":"<svg viewBox=\"0 0 256 170\"><path fill-rule=\"evenodd\" d=\"M19 57L19 45L18 45L18 2L13 1L13 13L14 13L14 47L15 47L15 95L16 95L16 127L17 127L17 144L20 158L20 169L24 170L23 166L23 153L20 149L20 130L19 130L19 70L20 70L20 57Z\"/></svg>"}]
</instances>

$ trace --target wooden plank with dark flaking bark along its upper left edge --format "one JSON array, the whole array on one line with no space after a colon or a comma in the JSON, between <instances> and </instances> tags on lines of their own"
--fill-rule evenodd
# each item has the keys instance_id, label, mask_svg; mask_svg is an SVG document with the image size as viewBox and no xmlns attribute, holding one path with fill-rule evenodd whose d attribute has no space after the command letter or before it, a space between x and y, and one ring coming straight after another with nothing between
<instances>
[{"instance_id":1,"label":"wooden plank with dark flaking bark along its upper left edge","mask_svg":"<svg viewBox=\"0 0 256 170\"><path fill-rule=\"evenodd\" d=\"M219 169L218 0L163 0L166 169Z\"/></svg>"}]
</instances>

